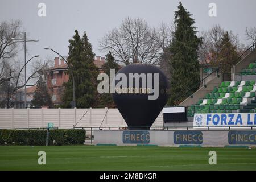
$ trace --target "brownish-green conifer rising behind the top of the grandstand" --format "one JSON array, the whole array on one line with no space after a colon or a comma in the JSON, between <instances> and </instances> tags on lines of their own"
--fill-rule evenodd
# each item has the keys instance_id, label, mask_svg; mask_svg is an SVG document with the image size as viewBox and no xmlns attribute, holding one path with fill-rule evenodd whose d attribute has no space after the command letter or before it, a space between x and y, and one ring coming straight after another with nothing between
<instances>
[{"instance_id":1,"label":"brownish-green conifer rising behind the top of the grandstand","mask_svg":"<svg viewBox=\"0 0 256 182\"><path fill-rule=\"evenodd\" d=\"M221 67L220 72L222 73L230 73L233 61L237 59L238 55L237 47L232 45L228 32L222 36L217 49L220 51L212 50L213 61L211 64L215 67Z\"/></svg>"}]
</instances>

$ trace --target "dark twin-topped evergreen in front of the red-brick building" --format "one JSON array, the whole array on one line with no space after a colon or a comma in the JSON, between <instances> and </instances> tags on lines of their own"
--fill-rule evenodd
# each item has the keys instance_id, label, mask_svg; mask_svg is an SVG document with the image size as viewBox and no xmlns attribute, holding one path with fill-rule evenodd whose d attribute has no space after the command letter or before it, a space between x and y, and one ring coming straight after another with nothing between
<instances>
[{"instance_id":1,"label":"dark twin-topped evergreen in front of the red-brick building","mask_svg":"<svg viewBox=\"0 0 256 182\"><path fill-rule=\"evenodd\" d=\"M89 108L97 105L97 76L98 68L93 63L94 53L86 33L80 38L75 30L73 39L69 40L68 65L75 78L75 97L77 108ZM64 107L71 107L73 100L73 80L71 71L67 71L69 80L64 84Z\"/></svg>"}]
</instances>

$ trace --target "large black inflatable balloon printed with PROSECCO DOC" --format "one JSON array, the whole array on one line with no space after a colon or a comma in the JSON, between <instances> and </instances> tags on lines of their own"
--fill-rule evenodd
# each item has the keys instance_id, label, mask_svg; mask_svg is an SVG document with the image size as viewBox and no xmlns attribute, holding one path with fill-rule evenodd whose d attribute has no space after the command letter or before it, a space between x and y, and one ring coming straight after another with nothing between
<instances>
[{"instance_id":1,"label":"large black inflatable balloon printed with PROSECCO DOC","mask_svg":"<svg viewBox=\"0 0 256 182\"><path fill-rule=\"evenodd\" d=\"M124 73L127 77L127 92L126 93L113 93L113 100L117 105L119 112L122 114L122 117L125 119L129 129L149 129L149 127L154 123L155 119L160 114L160 111L163 109L164 105L167 102L168 95L168 81L164 73L154 65L148 64L130 64L126 67L123 67L117 72ZM152 73L152 86L154 89L154 74L159 74L159 96L155 100L149 100L148 95L153 95L152 93L132 93L128 92L129 86L129 73L145 73L148 79L148 73ZM122 80L122 79L121 79ZM119 80L115 79L115 89ZM134 81L135 84L135 81ZM133 85L135 88L135 85ZM142 87L140 80L139 87ZM122 88L122 87L121 87ZM120 88L120 89L121 89ZM147 85L148 88L148 85ZM130 89L130 88L129 88Z\"/></svg>"}]
</instances>

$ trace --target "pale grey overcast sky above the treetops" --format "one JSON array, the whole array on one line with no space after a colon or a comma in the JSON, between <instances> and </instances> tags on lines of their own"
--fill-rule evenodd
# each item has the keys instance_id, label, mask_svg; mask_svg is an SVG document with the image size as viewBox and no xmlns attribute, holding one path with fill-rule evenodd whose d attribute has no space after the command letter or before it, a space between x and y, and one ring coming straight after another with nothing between
<instances>
[{"instance_id":1,"label":"pale grey overcast sky above the treetops","mask_svg":"<svg viewBox=\"0 0 256 182\"><path fill-rule=\"evenodd\" d=\"M240 41L246 44L246 27L256 27L255 0L181 2L193 14L198 31L220 24L225 30L238 34ZM208 15L208 5L212 2L217 5L217 17ZM46 4L46 17L38 16L39 3ZM72 38L75 29L80 35L86 31L93 52L105 57L105 52L98 50L98 40L105 32L118 27L127 16L142 18L150 26L158 26L160 22L170 23L178 3L172 0L0 0L0 22L20 19L29 38L39 39L39 42L27 43L28 59L36 53L41 59L53 59L56 55L44 50L44 46L67 56L68 39ZM23 59L23 52L20 52L20 59Z\"/></svg>"}]
</instances>

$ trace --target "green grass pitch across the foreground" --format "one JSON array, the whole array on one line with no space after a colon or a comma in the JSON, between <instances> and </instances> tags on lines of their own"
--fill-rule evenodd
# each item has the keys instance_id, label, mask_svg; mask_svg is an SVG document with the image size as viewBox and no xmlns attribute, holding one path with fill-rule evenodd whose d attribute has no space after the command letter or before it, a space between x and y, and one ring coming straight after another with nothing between
<instances>
[{"instance_id":1,"label":"green grass pitch across the foreground","mask_svg":"<svg viewBox=\"0 0 256 182\"><path fill-rule=\"evenodd\" d=\"M217 165L208 163L211 150ZM256 170L256 148L0 146L0 170Z\"/></svg>"}]
</instances>

